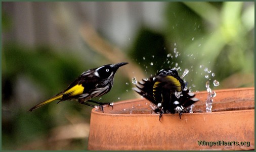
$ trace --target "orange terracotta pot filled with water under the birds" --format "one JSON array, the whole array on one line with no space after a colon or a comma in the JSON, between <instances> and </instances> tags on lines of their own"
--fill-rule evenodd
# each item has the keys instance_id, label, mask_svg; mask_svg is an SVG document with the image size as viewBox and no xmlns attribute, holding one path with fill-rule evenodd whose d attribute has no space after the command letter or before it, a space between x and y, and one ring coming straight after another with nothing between
<instances>
[{"instance_id":1,"label":"orange terracotta pot filled with water under the birds","mask_svg":"<svg viewBox=\"0 0 256 152\"><path fill-rule=\"evenodd\" d=\"M113 110L104 107L104 113L94 108L88 149L254 149L254 88L216 93L211 113L205 112L207 93L199 92L196 97L200 101L195 104L194 113L183 114L181 119L178 114L163 114L161 122L158 114L152 114L153 104L143 98L116 102ZM199 145L200 140L221 145ZM228 145L230 141L232 145ZM246 145L234 145L234 141L246 141Z\"/></svg>"}]
</instances>

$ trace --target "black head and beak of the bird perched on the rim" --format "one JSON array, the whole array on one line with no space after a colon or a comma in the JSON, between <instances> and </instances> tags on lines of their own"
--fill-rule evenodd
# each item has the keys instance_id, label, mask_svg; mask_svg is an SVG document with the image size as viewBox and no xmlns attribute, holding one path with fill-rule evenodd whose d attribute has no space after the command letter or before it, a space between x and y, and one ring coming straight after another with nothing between
<instances>
[{"instance_id":1,"label":"black head and beak of the bird perched on the rim","mask_svg":"<svg viewBox=\"0 0 256 152\"><path fill-rule=\"evenodd\" d=\"M117 64L107 64L100 66L95 69L95 75L101 79L107 79L114 76L116 70L125 64L128 64L127 62L121 62Z\"/></svg>"}]
</instances>

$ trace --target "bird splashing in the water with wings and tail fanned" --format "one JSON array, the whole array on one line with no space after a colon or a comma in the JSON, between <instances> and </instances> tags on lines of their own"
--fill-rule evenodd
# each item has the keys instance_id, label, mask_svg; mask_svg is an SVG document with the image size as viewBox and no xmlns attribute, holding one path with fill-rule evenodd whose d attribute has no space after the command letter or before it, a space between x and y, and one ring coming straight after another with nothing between
<instances>
[{"instance_id":1,"label":"bird splashing in the water with wings and tail fanned","mask_svg":"<svg viewBox=\"0 0 256 152\"><path fill-rule=\"evenodd\" d=\"M159 121L163 113L179 113L181 119L182 113L199 101L179 77L178 71L171 68L161 69L153 77L142 79L133 90L158 107L154 111L160 113Z\"/></svg>"}]
</instances>

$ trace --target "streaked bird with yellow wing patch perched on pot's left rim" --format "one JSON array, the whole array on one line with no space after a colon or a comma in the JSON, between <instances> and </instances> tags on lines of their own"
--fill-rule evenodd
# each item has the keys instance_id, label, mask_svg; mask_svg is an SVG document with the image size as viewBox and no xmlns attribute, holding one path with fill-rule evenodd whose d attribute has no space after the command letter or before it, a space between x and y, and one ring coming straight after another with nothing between
<instances>
[{"instance_id":1,"label":"streaked bird with yellow wing patch perched on pot's left rim","mask_svg":"<svg viewBox=\"0 0 256 152\"><path fill-rule=\"evenodd\" d=\"M101 97L111 90L113 86L114 75L117 69L125 64L128 64L128 62L106 64L84 71L67 87L67 89L48 100L38 103L28 111L31 112L55 100L59 100L58 103L65 100L78 100L80 104L88 105L91 107L95 107L95 105L92 105L88 102L99 104L102 112L104 112L102 105L108 104L112 107L112 104L101 103L91 99L95 97Z\"/></svg>"}]
</instances>

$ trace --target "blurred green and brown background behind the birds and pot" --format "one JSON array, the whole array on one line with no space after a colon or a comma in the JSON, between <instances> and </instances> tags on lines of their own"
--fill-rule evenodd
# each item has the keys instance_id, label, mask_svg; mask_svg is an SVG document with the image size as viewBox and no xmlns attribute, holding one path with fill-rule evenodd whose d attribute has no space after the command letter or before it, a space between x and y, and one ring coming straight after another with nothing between
<instances>
[{"instance_id":1,"label":"blurred green and brown background behind the birds and pot","mask_svg":"<svg viewBox=\"0 0 256 152\"><path fill-rule=\"evenodd\" d=\"M2 149L87 149L91 107L27 110L83 71L121 61L130 64L95 100L140 98L132 78L167 67L189 69L194 92L206 81L254 87L254 2L2 2Z\"/></svg>"}]
</instances>

